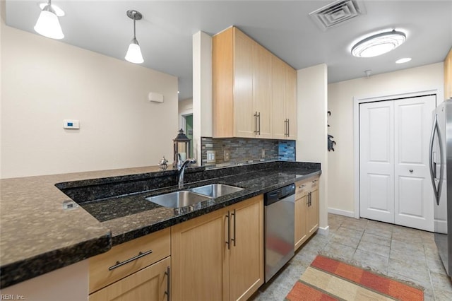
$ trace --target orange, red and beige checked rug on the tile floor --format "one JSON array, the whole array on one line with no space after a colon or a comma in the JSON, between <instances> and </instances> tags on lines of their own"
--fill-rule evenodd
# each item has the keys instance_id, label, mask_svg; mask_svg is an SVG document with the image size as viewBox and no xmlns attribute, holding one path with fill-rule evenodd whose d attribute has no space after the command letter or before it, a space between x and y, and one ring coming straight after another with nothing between
<instances>
[{"instance_id":1,"label":"orange, red and beige checked rug on the tile floor","mask_svg":"<svg viewBox=\"0 0 452 301\"><path fill-rule=\"evenodd\" d=\"M285 300L415 301L424 300L424 292L386 276L318 255Z\"/></svg>"}]
</instances>

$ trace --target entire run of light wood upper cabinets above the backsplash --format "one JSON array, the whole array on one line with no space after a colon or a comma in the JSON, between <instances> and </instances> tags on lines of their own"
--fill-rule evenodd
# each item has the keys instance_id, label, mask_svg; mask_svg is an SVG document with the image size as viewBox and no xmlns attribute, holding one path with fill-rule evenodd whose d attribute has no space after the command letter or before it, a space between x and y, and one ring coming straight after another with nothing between
<instances>
[{"instance_id":1,"label":"entire run of light wood upper cabinets above the backsplash","mask_svg":"<svg viewBox=\"0 0 452 301\"><path fill-rule=\"evenodd\" d=\"M234 27L213 36L212 57L213 137L296 138L292 67ZM284 67L277 75L275 59Z\"/></svg>"}]
</instances>

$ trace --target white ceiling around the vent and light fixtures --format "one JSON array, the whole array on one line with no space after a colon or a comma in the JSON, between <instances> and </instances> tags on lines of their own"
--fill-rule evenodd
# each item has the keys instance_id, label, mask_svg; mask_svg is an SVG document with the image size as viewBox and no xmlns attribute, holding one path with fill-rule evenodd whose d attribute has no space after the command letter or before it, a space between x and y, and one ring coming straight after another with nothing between
<instances>
[{"instance_id":1,"label":"white ceiling around the vent and light fixtures","mask_svg":"<svg viewBox=\"0 0 452 301\"><path fill-rule=\"evenodd\" d=\"M42 1L6 0L6 24L30 33ZM179 78L179 100L192 96L192 36L236 25L295 69L325 63L328 83L444 61L452 46L452 0L359 1L367 13L321 30L309 13L329 1L119 1L54 0L64 39L109 57L124 59L133 37L126 11L143 14L136 22L145 67ZM357 39L379 30L403 30L407 41L380 57L358 59ZM406 64L397 59L411 57Z\"/></svg>"}]
</instances>

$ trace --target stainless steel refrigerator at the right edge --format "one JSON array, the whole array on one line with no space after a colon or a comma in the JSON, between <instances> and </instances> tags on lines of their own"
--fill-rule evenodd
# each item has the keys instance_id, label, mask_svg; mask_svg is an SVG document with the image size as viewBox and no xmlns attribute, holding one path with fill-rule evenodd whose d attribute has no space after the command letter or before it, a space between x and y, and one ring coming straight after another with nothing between
<instances>
[{"instance_id":1,"label":"stainless steel refrigerator at the right edge","mask_svg":"<svg viewBox=\"0 0 452 301\"><path fill-rule=\"evenodd\" d=\"M439 256L452 276L452 99L433 112L430 175L434 190L434 237ZM451 179L451 181L448 181Z\"/></svg>"}]
</instances>

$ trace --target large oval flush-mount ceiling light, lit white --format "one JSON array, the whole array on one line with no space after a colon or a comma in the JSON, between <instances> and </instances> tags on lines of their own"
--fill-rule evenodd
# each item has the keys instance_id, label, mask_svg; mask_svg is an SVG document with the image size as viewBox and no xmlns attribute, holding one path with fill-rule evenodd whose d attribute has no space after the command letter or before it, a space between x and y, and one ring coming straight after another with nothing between
<instances>
[{"instance_id":1,"label":"large oval flush-mount ceiling light, lit white","mask_svg":"<svg viewBox=\"0 0 452 301\"><path fill-rule=\"evenodd\" d=\"M355 57L376 57L390 52L403 44L406 40L405 33L392 30L365 38L352 47Z\"/></svg>"}]
</instances>

